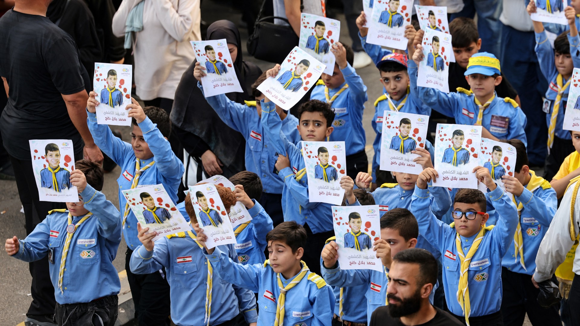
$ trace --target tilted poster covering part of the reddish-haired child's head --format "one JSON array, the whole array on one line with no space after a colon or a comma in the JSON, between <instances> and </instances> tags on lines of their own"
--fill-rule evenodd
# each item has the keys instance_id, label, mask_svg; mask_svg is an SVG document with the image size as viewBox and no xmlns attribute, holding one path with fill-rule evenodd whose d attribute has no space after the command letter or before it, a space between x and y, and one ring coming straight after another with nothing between
<instances>
[{"instance_id":1,"label":"tilted poster covering part of the reddish-haired child's head","mask_svg":"<svg viewBox=\"0 0 580 326\"><path fill-rule=\"evenodd\" d=\"M218 190L211 183L189 186L191 204L195 209L197 222L201 224L208 240L208 249L216 245L236 244L234 229L219 197Z\"/></svg>"}]
</instances>

